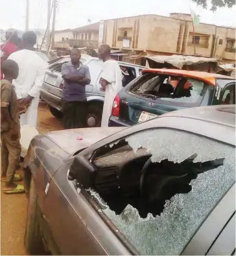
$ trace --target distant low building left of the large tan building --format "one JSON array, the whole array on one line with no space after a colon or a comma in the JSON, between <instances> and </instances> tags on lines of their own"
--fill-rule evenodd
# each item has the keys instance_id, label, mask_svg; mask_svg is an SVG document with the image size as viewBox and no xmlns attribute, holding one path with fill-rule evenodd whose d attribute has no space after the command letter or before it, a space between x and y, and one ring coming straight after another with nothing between
<instances>
[{"instance_id":1,"label":"distant low building left of the large tan building","mask_svg":"<svg viewBox=\"0 0 236 256\"><path fill-rule=\"evenodd\" d=\"M70 44L77 47L98 47L99 22L73 29L73 40Z\"/></svg>"}]
</instances>

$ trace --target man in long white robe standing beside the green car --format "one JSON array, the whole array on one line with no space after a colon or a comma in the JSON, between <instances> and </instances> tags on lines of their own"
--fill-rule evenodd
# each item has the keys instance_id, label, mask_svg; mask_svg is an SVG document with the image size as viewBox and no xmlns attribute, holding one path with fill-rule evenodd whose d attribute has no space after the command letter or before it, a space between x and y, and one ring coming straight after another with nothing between
<instances>
[{"instance_id":1,"label":"man in long white robe standing beside the green car","mask_svg":"<svg viewBox=\"0 0 236 256\"><path fill-rule=\"evenodd\" d=\"M116 60L110 57L110 46L100 45L99 58L104 61L100 84L106 90L102 112L101 127L108 127L109 118L112 114L112 105L115 96L123 88L121 68Z\"/></svg>"}]
</instances>

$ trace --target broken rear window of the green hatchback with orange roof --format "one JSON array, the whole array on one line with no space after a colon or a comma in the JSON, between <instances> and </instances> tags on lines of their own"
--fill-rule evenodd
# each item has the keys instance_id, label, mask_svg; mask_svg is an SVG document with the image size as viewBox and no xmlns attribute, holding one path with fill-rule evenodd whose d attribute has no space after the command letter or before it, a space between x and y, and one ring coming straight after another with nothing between
<instances>
[{"instance_id":1,"label":"broken rear window of the green hatchback with orange roof","mask_svg":"<svg viewBox=\"0 0 236 256\"><path fill-rule=\"evenodd\" d=\"M198 103L204 96L206 85L187 77L146 73L130 90L141 97L185 106Z\"/></svg>"}]
</instances>

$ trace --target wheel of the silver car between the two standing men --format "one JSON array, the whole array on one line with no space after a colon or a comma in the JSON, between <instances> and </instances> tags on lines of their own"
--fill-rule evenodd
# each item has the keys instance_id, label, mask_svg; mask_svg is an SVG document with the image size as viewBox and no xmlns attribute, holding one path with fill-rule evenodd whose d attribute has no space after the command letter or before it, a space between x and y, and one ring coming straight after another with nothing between
<instances>
[{"instance_id":1,"label":"wheel of the silver car between the two standing men","mask_svg":"<svg viewBox=\"0 0 236 256\"><path fill-rule=\"evenodd\" d=\"M89 103L86 116L87 127L100 127L102 121L102 103Z\"/></svg>"}]
</instances>

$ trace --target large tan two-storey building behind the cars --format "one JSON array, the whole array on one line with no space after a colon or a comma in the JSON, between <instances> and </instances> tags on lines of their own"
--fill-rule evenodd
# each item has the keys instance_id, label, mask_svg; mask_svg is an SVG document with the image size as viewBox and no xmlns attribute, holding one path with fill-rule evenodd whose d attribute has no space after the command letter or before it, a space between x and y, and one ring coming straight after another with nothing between
<instances>
[{"instance_id":1,"label":"large tan two-storey building behind the cars","mask_svg":"<svg viewBox=\"0 0 236 256\"><path fill-rule=\"evenodd\" d=\"M196 51L196 56L235 62L235 29L200 23L193 32L190 14L143 15L100 24L102 43L133 54L126 61L143 55L195 55Z\"/></svg>"}]
</instances>

